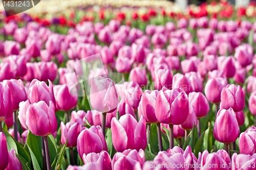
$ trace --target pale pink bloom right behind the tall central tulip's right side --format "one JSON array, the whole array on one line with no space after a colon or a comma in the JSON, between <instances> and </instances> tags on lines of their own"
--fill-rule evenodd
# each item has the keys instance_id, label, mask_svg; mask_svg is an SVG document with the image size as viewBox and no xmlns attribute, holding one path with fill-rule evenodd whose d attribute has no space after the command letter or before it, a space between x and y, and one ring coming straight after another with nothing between
<instances>
[{"instance_id":1,"label":"pale pink bloom right behind the tall central tulip's right side","mask_svg":"<svg viewBox=\"0 0 256 170\"><path fill-rule=\"evenodd\" d=\"M125 99L126 104L130 105L133 109L138 109L143 93L138 83L130 81L116 84L116 89L118 95Z\"/></svg>"}]
</instances>

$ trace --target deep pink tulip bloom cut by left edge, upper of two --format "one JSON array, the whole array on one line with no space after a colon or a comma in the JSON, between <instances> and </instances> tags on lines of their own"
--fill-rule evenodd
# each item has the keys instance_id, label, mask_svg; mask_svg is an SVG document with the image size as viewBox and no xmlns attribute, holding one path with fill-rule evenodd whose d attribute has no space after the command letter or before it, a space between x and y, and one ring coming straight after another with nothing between
<instances>
[{"instance_id":1,"label":"deep pink tulip bloom cut by left edge, upper of two","mask_svg":"<svg viewBox=\"0 0 256 170\"><path fill-rule=\"evenodd\" d=\"M0 123L2 123L4 120L10 118L13 113L12 95L8 85L4 88L0 84L0 98Z\"/></svg>"}]
</instances>

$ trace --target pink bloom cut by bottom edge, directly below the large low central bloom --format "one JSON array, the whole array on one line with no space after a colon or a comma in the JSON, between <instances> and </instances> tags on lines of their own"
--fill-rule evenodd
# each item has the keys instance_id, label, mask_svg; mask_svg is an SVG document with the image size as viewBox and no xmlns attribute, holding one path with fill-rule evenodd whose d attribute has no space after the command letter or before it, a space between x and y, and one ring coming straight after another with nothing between
<instances>
[{"instance_id":1,"label":"pink bloom cut by bottom edge, directly below the large low central bloom","mask_svg":"<svg viewBox=\"0 0 256 170\"><path fill-rule=\"evenodd\" d=\"M122 153L116 153L112 160L112 169L140 169L145 163L145 154L142 149L125 150Z\"/></svg>"}]
</instances>

